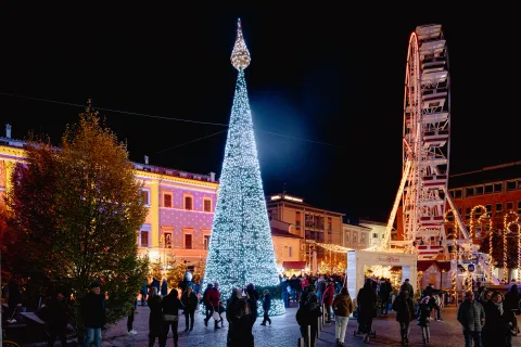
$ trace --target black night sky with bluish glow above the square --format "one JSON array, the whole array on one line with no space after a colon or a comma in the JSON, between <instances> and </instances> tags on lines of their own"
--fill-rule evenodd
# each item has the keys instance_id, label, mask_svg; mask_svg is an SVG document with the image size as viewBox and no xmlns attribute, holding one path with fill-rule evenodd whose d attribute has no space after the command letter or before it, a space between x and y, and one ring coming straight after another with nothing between
<instances>
[{"instance_id":1,"label":"black night sky with bluish glow above the square","mask_svg":"<svg viewBox=\"0 0 521 347\"><path fill-rule=\"evenodd\" d=\"M285 182L288 193L318 207L386 220L401 179L408 37L431 23L443 25L449 49L452 172L520 159L513 52L521 41L512 8L64 3L2 5L1 93L75 104L92 97L103 108L227 124L240 16L252 54L246 81L267 194ZM0 120L13 125L15 138L34 129L59 143L79 111L0 94ZM164 150L223 126L103 114L128 141L132 160L149 155L154 165L220 172L226 132Z\"/></svg>"}]
</instances>

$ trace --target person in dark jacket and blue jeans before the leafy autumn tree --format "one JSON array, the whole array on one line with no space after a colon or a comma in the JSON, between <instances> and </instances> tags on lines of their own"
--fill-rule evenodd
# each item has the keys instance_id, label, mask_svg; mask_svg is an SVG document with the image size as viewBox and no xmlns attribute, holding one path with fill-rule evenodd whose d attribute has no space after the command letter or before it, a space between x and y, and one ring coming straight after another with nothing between
<instances>
[{"instance_id":1,"label":"person in dark jacket and blue jeans before the leafy autumn tree","mask_svg":"<svg viewBox=\"0 0 521 347\"><path fill-rule=\"evenodd\" d=\"M99 282L92 282L90 293L81 300L81 317L84 318L86 334L84 347L101 347L101 329L105 325L105 298L101 295Z\"/></svg>"}]
</instances>

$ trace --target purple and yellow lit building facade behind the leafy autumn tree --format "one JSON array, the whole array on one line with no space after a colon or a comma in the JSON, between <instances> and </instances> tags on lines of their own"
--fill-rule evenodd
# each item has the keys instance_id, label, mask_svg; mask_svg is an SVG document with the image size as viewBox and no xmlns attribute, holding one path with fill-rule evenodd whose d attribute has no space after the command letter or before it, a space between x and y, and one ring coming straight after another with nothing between
<instances>
[{"instance_id":1,"label":"purple and yellow lit building facade behind the leafy autumn tree","mask_svg":"<svg viewBox=\"0 0 521 347\"><path fill-rule=\"evenodd\" d=\"M12 187L16 163L25 158L24 141L0 138L0 197ZM196 175L135 163L143 182L141 197L149 213L137 232L138 252L152 260L175 256L189 269L206 258L218 183L215 174Z\"/></svg>"}]
</instances>

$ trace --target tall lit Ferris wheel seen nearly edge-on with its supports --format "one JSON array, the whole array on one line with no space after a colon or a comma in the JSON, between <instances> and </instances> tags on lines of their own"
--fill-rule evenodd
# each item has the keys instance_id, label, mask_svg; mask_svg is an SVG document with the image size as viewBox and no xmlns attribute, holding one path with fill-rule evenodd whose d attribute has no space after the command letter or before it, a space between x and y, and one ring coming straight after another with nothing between
<instances>
[{"instance_id":1,"label":"tall lit Ferris wheel seen nearly edge-on with its supports","mask_svg":"<svg viewBox=\"0 0 521 347\"><path fill-rule=\"evenodd\" d=\"M409 37L405 73L402 182L382 243L384 248L394 244L406 253L418 252L415 244L432 245L434 240L437 249L429 247L429 252L437 254L446 246L444 213L447 201L457 211L447 190L449 88L448 52L442 26L418 26ZM398 209L403 240L391 241ZM468 239L459 214L455 217Z\"/></svg>"}]
</instances>

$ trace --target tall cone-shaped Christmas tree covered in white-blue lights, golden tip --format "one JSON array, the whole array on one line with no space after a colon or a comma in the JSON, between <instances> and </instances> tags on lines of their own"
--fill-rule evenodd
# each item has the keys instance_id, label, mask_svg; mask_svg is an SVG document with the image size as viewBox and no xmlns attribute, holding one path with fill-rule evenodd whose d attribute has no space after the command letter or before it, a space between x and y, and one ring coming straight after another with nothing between
<instances>
[{"instance_id":1,"label":"tall cone-shaped Christmas tree covered in white-blue lights, golden tip","mask_svg":"<svg viewBox=\"0 0 521 347\"><path fill-rule=\"evenodd\" d=\"M223 297L228 298L232 286L243 288L253 283L260 295L266 288L271 293L269 313L281 314L284 307L244 80L250 61L239 20L231 54L239 73L203 288L209 282L219 282Z\"/></svg>"}]
</instances>

